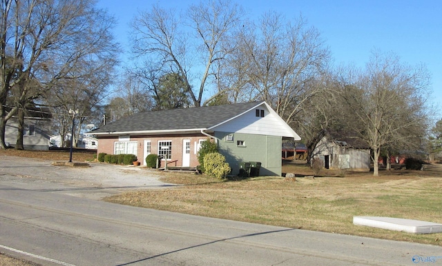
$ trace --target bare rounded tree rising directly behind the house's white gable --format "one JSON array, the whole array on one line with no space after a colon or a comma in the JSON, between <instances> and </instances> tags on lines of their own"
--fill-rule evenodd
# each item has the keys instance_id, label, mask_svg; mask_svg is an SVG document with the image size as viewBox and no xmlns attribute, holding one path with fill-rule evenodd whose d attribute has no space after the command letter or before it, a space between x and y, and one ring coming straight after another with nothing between
<instances>
[{"instance_id":1,"label":"bare rounded tree rising directly behind the house's white gable","mask_svg":"<svg viewBox=\"0 0 442 266\"><path fill-rule=\"evenodd\" d=\"M247 92L238 95L266 101L291 123L312 96L325 90L316 80L327 71L329 50L302 17L287 21L269 12L258 26L244 25L238 39L239 58L231 57L227 66L240 74L236 89Z\"/></svg>"}]
</instances>

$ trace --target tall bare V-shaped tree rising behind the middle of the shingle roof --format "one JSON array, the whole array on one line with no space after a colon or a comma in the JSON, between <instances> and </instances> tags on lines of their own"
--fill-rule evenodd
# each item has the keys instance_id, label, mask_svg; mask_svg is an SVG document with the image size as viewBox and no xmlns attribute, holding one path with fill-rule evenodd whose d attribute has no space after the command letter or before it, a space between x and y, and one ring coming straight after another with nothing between
<instances>
[{"instance_id":1,"label":"tall bare V-shaped tree rising behind the middle of the shingle roof","mask_svg":"<svg viewBox=\"0 0 442 266\"><path fill-rule=\"evenodd\" d=\"M186 93L198 107L216 72L215 63L231 53L224 43L241 14L237 5L221 0L193 5L182 17L174 10L153 6L133 22L135 54L159 64L159 76L171 72L181 76Z\"/></svg>"}]
</instances>

